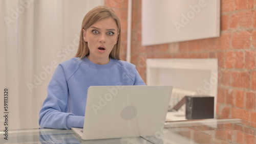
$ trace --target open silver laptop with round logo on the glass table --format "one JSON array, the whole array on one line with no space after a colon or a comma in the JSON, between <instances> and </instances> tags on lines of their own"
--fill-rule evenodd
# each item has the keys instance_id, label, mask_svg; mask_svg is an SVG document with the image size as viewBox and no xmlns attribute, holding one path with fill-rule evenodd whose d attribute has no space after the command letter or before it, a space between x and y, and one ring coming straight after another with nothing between
<instances>
[{"instance_id":1,"label":"open silver laptop with round logo on the glass table","mask_svg":"<svg viewBox=\"0 0 256 144\"><path fill-rule=\"evenodd\" d=\"M83 140L154 136L162 131L172 86L91 86L83 128L72 130Z\"/></svg>"}]
</instances>

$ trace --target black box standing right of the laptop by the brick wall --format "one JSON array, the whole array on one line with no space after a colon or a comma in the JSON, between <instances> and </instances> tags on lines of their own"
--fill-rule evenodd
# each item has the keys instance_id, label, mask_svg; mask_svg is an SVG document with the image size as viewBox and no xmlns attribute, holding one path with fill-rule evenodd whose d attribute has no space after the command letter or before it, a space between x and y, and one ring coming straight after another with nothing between
<instances>
[{"instance_id":1,"label":"black box standing right of the laptop by the brick wall","mask_svg":"<svg viewBox=\"0 0 256 144\"><path fill-rule=\"evenodd\" d=\"M186 119L214 118L214 97L185 96Z\"/></svg>"}]
</instances>

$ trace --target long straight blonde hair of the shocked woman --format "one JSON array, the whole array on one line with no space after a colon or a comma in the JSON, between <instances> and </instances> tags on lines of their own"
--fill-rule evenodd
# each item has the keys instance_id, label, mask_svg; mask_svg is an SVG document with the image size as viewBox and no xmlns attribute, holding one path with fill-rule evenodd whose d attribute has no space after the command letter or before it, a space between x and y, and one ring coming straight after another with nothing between
<instances>
[{"instance_id":1,"label":"long straight blonde hair of the shocked woman","mask_svg":"<svg viewBox=\"0 0 256 144\"><path fill-rule=\"evenodd\" d=\"M118 40L117 43L114 45L113 50L110 53L110 57L114 59L120 60L120 45L121 45L121 25L120 25L120 20L119 17L116 15L116 13L113 11L113 9L106 7L106 6L98 6L89 11L86 16L84 16L82 20L82 28L80 32L80 39L79 39L79 45L78 45L78 50L75 55L75 57L80 57L83 58L87 55L90 54L88 43L83 40L83 29L87 30L90 28L95 22L103 19L103 18L113 18L116 22L117 25L117 33L118 35Z\"/></svg>"}]
</instances>

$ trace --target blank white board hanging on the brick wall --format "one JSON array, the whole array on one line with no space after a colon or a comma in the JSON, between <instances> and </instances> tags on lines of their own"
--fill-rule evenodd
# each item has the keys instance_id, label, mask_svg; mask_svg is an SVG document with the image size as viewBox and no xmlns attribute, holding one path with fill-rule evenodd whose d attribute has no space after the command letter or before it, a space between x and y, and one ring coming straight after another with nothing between
<instances>
[{"instance_id":1,"label":"blank white board hanging on the brick wall","mask_svg":"<svg viewBox=\"0 0 256 144\"><path fill-rule=\"evenodd\" d=\"M220 0L142 0L142 45L220 36Z\"/></svg>"}]
</instances>

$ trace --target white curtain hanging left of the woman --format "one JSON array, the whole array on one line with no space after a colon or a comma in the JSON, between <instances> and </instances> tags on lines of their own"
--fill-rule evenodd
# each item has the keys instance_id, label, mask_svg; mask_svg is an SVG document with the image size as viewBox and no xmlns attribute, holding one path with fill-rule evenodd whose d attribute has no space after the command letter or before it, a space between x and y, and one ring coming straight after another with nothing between
<instances>
[{"instance_id":1,"label":"white curtain hanging left of the woman","mask_svg":"<svg viewBox=\"0 0 256 144\"><path fill-rule=\"evenodd\" d=\"M0 0L0 130L5 122L8 129L39 127L38 113L56 65L74 57L84 15L103 2ZM9 113L4 113L7 102Z\"/></svg>"}]
</instances>

